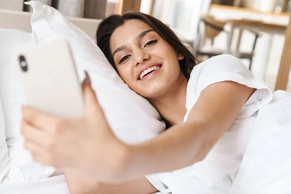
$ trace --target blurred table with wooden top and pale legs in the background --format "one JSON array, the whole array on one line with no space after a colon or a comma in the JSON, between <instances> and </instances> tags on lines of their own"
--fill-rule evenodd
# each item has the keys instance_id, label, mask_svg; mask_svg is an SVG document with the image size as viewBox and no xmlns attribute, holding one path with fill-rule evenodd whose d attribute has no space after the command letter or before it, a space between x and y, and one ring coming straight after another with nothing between
<instances>
[{"instance_id":1,"label":"blurred table with wooden top and pale legs in the background","mask_svg":"<svg viewBox=\"0 0 291 194\"><path fill-rule=\"evenodd\" d=\"M273 34L285 34L289 23L289 13L266 13L249 8L211 5L209 15L213 16L215 19L226 21L230 24L230 31L225 50L226 54L233 54L236 57L240 56L239 47L243 30L249 30L256 33L267 33L263 36L264 47L260 50L262 58L259 60L259 75L257 75L259 78L264 79L272 46ZM232 52L230 46L233 41L234 29L239 29L239 36L236 48Z\"/></svg>"}]
</instances>

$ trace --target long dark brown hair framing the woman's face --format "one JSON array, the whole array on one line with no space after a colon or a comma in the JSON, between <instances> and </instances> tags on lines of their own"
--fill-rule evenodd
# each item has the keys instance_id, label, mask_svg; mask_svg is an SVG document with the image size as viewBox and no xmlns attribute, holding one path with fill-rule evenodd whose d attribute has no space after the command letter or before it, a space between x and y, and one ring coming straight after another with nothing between
<instances>
[{"instance_id":1,"label":"long dark brown hair framing the woman's face","mask_svg":"<svg viewBox=\"0 0 291 194\"><path fill-rule=\"evenodd\" d=\"M198 63L194 55L189 51L189 49L186 48L178 36L168 26L162 23L159 19L140 12L129 12L123 16L111 15L103 19L98 25L96 33L97 45L102 50L113 68L116 70L110 50L110 38L116 28L122 26L127 20L130 19L139 19L145 22L169 45L171 45L175 51L184 55L184 59L179 61L179 65L182 73L187 80L189 80L193 67Z\"/></svg>"}]
</instances>

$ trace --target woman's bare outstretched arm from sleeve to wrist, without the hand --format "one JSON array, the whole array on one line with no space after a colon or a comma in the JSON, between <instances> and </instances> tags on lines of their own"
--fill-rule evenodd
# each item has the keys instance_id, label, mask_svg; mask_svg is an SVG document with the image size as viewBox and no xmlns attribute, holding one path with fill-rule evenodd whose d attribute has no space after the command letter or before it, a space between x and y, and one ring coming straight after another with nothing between
<instances>
[{"instance_id":1,"label":"woman's bare outstretched arm from sleeve to wrist, without the hand","mask_svg":"<svg viewBox=\"0 0 291 194\"><path fill-rule=\"evenodd\" d=\"M201 92L187 122L145 143L129 146L121 177L177 170L203 160L254 91L232 81L208 86Z\"/></svg>"}]
</instances>

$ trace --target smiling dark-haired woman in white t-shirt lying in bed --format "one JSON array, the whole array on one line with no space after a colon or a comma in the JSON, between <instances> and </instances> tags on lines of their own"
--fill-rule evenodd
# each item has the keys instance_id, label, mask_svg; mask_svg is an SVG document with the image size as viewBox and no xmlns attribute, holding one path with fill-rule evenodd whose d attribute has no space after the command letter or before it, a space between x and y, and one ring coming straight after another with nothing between
<instances>
[{"instance_id":1,"label":"smiling dark-haired woman in white t-shirt lying in bed","mask_svg":"<svg viewBox=\"0 0 291 194\"><path fill-rule=\"evenodd\" d=\"M203 176L216 193L229 191L257 113L272 99L270 88L229 55L197 65L174 32L142 13L104 19L97 45L129 88L159 111L168 129L138 145L120 142L87 75L81 118L64 120L23 108L25 147L34 160L63 169L72 193L175 193L193 177L203 182ZM231 170L222 170L225 163ZM175 173L190 179L177 188L161 179ZM203 191L210 193L211 186Z\"/></svg>"}]
</instances>

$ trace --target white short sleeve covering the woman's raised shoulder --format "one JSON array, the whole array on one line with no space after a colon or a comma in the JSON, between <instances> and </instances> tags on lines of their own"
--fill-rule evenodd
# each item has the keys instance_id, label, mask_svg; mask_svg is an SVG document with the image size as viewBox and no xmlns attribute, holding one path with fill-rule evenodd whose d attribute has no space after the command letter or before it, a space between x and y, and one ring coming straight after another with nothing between
<instances>
[{"instance_id":1,"label":"white short sleeve covering the woman's raised shoulder","mask_svg":"<svg viewBox=\"0 0 291 194\"><path fill-rule=\"evenodd\" d=\"M192 99L197 100L206 87L214 83L224 86L225 84L221 83L224 81L232 81L257 89L254 96L246 103L248 106L245 109L248 110L240 116L254 113L262 105L269 103L273 97L270 87L263 80L256 78L241 60L231 55L219 55L194 67L187 86L188 103L193 101ZM215 85L218 86L218 84ZM256 103L253 103L255 101ZM192 107L193 104L189 104L188 107ZM250 108L250 105L253 107Z\"/></svg>"}]
</instances>

